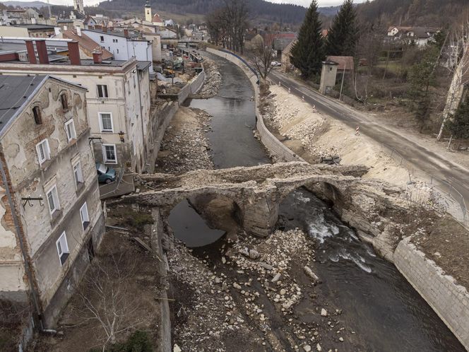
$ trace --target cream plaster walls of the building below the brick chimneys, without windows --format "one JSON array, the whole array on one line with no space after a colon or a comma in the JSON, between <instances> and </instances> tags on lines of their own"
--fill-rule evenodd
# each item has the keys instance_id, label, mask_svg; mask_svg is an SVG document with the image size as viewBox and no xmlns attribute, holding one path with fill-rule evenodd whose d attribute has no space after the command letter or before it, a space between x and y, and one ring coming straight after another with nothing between
<instances>
[{"instance_id":1,"label":"cream plaster walls of the building below the brick chimneys, without windows","mask_svg":"<svg viewBox=\"0 0 469 352\"><path fill-rule=\"evenodd\" d=\"M112 61L113 64L0 64L4 74L51 74L88 88L86 93L88 123L94 141L95 159L110 168L125 168L142 172L146 151L150 150L153 135L150 126L149 67L138 67L136 59ZM93 61L91 61L93 62ZM107 97L100 98L98 85L107 86ZM103 131L101 114L112 117L112 131ZM124 142L119 132L124 132ZM103 144L115 146L117 160L106 162Z\"/></svg>"}]
</instances>

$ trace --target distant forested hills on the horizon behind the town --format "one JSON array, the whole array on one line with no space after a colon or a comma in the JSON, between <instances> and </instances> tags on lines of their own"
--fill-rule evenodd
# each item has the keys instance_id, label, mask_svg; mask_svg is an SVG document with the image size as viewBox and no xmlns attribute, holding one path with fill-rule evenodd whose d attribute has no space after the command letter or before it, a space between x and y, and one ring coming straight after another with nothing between
<instances>
[{"instance_id":1,"label":"distant forested hills on the horizon behind the town","mask_svg":"<svg viewBox=\"0 0 469 352\"><path fill-rule=\"evenodd\" d=\"M135 11L143 8L146 0L112 0L99 4L100 8ZM196 13L205 15L225 4L223 0L155 0L150 5L157 11ZM263 0L249 0L251 16L278 23L301 23L306 8L290 4L272 4Z\"/></svg>"}]
</instances>

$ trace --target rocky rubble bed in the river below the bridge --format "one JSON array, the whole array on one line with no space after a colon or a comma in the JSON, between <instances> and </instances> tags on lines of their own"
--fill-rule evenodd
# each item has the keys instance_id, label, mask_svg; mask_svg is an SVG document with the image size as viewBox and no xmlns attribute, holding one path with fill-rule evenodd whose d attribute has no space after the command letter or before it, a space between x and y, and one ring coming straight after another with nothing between
<instances>
[{"instance_id":1,"label":"rocky rubble bed in the river below the bridge","mask_svg":"<svg viewBox=\"0 0 469 352\"><path fill-rule=\"evenodd\" d=\"M182 351L235 351L237 344L239 351L319 351L343 341L340 310L316 300L313 244L301 230L242 237L200 259L175 248L172 274L195 292L179 309L186 317L175 329ZM314 322L302 321L297 307L311 300Z\"/></svg>"}]
</instances>

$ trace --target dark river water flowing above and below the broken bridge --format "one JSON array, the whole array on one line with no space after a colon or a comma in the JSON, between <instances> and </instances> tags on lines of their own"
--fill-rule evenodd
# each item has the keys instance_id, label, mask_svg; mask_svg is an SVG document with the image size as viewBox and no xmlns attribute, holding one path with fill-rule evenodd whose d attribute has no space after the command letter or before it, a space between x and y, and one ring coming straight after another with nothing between
<instances>
[{"instance_id":1,"label":"dark river water flowing above and below the broken bridge","mask_svg":"<svg viewBox=\"0 0 469 352\"><path fill-rule=\"evenodd\" d=\"M213 133L208 137L215 168L270 163L252 134L255 108L249 81L229 61L210 58L221 66L220 92L215 98L191 100L189 106L213 116ZM362 338L353 347L344 344L342 351L465 351L396 267L377 257L314 194L299 189L287 196L280 205L279 224L286 229L302 228L316 239L314 270L323 281L318 289L343 309L344 326ZM219 230L208 228L187 202L172 211L170 225L189 247L208 245L222 236Z\"/></svg>"}]
</instances>

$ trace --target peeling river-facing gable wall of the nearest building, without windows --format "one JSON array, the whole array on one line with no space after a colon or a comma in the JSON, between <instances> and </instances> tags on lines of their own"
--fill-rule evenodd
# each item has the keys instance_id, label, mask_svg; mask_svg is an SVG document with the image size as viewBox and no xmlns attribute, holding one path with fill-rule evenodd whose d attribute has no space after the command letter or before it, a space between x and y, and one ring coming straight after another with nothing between
<instances>
[{"instance_id":1,"label":"peeling river-facing gable wall of the nearest building, without windows","mask_svg":"<svg viewBox=\"0 0 469 352\"><path fill-rule=\"evenodd\" d=\"M67 96L68 110L64 111L61 106L61 94ZM35 123L32 114L34 106L41 108L42 124ZM75 125L76 139L68 141L64 123L70 119ZM21 204L16 211L28 242L42 307L51 304L52 298L57 295L65 297L62 303L66 302L66 293L59 292L59 286L69 271L75 270L78 253L87 246L92 233L95 233L94 245L97 247L104 232L89 136L85 90L49 81L0 140L11 184L16 190L16 203ZM50 160L40 165L36 145L44 139L49 141ZM73 163L78 160L83 174L83 184L80 186L77 186L73 174ZM46 192L53 186L57 188L59 210L51 214ZM23 206L21 199L28 196L42 197L43 200L41 203L35 201L33 206ZM90 224L83 229L80 209L85 202ZM62 265L57 240L64 232L69 257ZM83 269L74 275L78 278L82 273ZM71 291L73 287L67 289Z\"/></svg>"}]
</instances>

